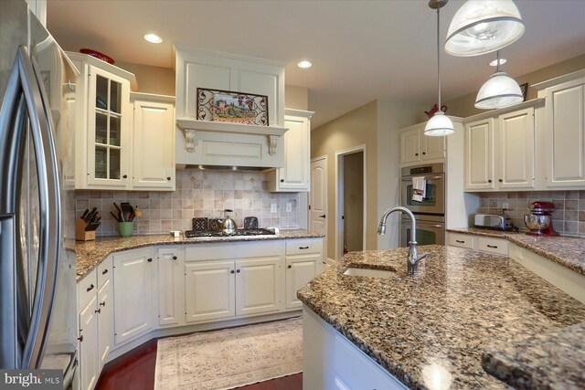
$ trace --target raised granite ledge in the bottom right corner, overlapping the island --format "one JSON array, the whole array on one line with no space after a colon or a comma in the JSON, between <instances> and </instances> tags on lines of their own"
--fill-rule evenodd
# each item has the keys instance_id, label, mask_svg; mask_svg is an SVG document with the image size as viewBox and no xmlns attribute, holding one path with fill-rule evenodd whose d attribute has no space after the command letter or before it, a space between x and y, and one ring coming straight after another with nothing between
<instances>
[{"instance_id":1,"label":"raised granite ledge in the bottom right corner, overlapping the island","mask_svg":"<svg viewBox=\"0 0 585 390\"><path fill-rule=\"evenodd\" d=\"M585 323L499 345L484 353L482 364L518 390L583 388Z\"/></svg>"}]
</instances>

